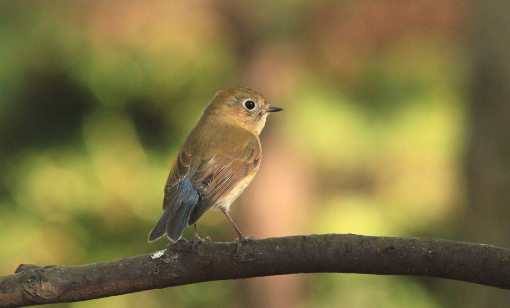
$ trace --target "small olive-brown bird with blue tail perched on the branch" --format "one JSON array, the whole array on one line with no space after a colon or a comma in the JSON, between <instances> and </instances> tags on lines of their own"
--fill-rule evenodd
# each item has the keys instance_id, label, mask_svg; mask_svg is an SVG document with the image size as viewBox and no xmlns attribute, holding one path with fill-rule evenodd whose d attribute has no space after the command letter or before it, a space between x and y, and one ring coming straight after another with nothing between
<instances>
[{"instance_id":1,"label":"small olive-brown bird with blue tail perched on the branch","mask_svg":"<svg viewBox=\"0 0 510 308\"><path fill-rule=\"evenodd\" d=\"M164 213L149 233L149 243L165 235L176 242L184 228L193 225L197 244L202 239L196 222L211 208L226 215L240 243L249 240L228 209L259 170L259 134L267 116L282 110L269 106L262 94L249 88L217 92L173 162L165 185Z\"/></svg>"}]
</instances>

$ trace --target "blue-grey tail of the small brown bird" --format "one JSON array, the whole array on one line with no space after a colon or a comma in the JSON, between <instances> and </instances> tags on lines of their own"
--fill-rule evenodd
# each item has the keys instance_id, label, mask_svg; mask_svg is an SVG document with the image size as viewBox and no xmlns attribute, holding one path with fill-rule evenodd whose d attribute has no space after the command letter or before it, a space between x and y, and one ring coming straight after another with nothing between
<instances>
[{"instance_id":1,"label":"blue-grey tail of the small brown bird","mask_svg":"<svg viewBox=\"0 0 510 308\"><path fill-rule=\"evenodd\" d=\"M187 181L180 183L173 204L168 206L156 226L151 230L147 238L148 242L154 242L165 235L172 242L179 241L188 224L191 212L198 201L198 193Z\"/></svg>"}]
</instances>

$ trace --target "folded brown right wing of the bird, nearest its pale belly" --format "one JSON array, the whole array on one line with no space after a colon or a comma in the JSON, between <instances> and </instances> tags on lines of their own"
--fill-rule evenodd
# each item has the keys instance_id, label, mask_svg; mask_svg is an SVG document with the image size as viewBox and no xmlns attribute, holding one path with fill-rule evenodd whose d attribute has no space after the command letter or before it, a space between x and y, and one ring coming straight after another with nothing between
<instances>
[{"instance_id":1,"label":"folded brown right wing of the bird, nearest its pale belly","mask_svg":"<svg viewBox=\"0 0 510 308\"><path fill-rule=\"evenodd\" d=\"M203 160L191 177L199 199L188 224L195 223L203 213L230 193L246 176L259 167L261 158L257 139L247 143L243 151L232 156L217 155ZM232 200L233 201L233 200Z\"/></svg>"}]
</instances>

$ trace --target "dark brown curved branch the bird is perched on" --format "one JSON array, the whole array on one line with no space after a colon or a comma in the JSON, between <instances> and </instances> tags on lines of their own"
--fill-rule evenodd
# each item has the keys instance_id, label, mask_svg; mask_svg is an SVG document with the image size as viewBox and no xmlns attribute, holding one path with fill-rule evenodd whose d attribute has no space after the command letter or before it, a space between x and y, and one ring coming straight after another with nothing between
<instances>
[{"instance_id":1,"label":"dark brown curved branch the bird is perched on","mask_svg":"<svg viewBox=\"0 0 510 308\"><path fill-rule=\"evenodd\" d=\"M72 302L202 281L293 273L441 277L510 290L510 249L430 238L310 235L237 243L181 240L166 250L77 266L20 265L0 307Z\"/></svg>"}]
</instances>

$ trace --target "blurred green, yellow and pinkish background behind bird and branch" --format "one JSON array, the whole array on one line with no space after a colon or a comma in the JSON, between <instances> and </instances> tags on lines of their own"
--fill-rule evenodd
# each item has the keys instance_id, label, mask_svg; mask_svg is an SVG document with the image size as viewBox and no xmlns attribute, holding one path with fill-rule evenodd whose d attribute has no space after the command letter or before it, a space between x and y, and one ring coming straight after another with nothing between
<instances>
[{"instance_id":1,"label":"blurred green, yellow and pinkish background behind bird and branch","mask_svg":"<svg viewBox=\"0 0 510 308\"><path fill-rule=\"evenodd\" d=\"M146 239L174 156L214 93L241 85L285 109L232 207L245 235L509 247L509 14L462 0L0 2L0 275L164 249ZM218 212L198 227L236 238ZM52 307L508 302L460 281L298 274Z\"/></svg>"}]
</instances>

